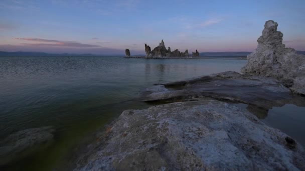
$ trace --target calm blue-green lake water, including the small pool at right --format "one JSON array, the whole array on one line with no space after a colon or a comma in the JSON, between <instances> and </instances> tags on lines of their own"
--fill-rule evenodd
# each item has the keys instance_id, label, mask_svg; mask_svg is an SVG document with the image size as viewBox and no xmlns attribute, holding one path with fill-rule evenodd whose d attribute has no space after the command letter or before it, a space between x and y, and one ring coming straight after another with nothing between
<instances>
[{"instance_id":1,"label":"calm blue-green lake water, including the small pool at right","mask_svg":"<svg viewBox=\"0 0 305 171\"><path fill-rule=\"evenodd\" d=\"M51 146L3 168L52 169L63 164L88 133L123 110L148 107L136 100L143 88L216 72L239 72L245 63L240 59L0 57L0 138L32 127L56 128ZM287 104L269 110L263 121L305 144L304 113L304 107Z\"/></svg>"}]
</instances>

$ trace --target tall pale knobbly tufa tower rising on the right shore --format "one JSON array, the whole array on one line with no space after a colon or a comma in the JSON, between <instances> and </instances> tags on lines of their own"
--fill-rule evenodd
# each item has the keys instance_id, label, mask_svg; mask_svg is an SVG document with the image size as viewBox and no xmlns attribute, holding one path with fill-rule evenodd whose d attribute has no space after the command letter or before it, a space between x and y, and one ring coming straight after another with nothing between
<instances>
[{"instance_id":1,"label":"tall pale knobbly tufa tower rising on the right shore","mask_svg":"<svg viewBox=\"0 0 305 171\"><path fill-rule=\"evenodd\" d=\"M283 33L277 31L277 25L273 20L266 21L257 48L247 56L242 72L274 77L291 90L305 94L305 55L285 48Z\"/></svg>"}]
</instances>

